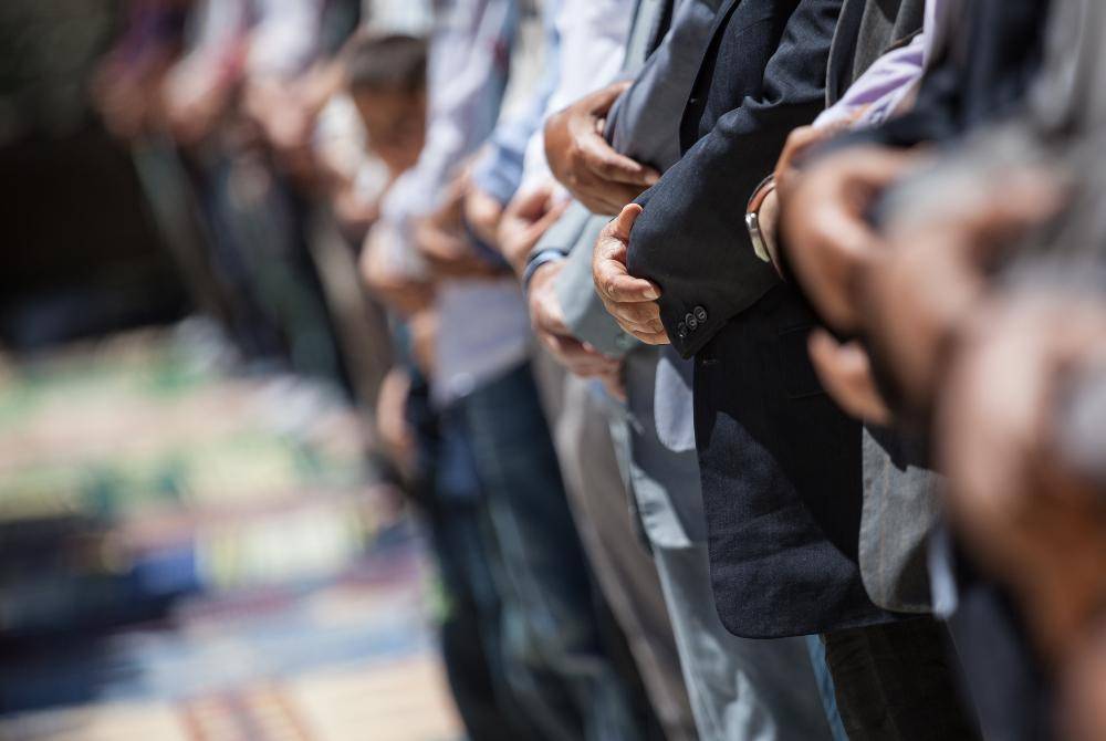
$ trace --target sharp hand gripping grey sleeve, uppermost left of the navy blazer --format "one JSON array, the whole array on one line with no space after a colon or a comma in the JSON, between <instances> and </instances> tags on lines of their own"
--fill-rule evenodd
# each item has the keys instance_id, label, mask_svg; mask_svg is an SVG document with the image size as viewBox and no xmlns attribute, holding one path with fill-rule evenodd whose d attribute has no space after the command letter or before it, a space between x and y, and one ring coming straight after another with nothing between
<instances>
[{"instance_id":1,"label":"sharp hand gripping grey sleeve, uppermost left of the navy blazer","mask_svg":"<svg viewBox=\"0 0 1106 741\"><path fill-rule=\"evenodd\" d=\"M545 157L553 176L593 213L617 213L660 175L611 148L603 127L629 87L617 82L582 97L545 123Z\"/></svg>"}]
</instances>

